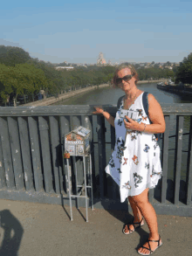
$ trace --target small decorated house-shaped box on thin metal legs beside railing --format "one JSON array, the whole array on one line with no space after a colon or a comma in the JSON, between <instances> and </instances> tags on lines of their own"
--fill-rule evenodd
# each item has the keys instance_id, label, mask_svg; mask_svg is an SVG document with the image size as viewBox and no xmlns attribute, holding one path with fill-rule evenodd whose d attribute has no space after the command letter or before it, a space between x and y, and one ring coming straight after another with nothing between
<instances>
[{"instance_id":1,"label":"small decorated house-shaped box on thin metal legs beside railing","mask_svg":"<svg viewBox=\"0 0 192 256\"><path fill-rule=\"evenodd\" d=\"M91 130L79 126L72 130L70 133L65 135L65 158L67 163L67 175L68 175L68 192L69 192L69 200L70 200L70 211L71 211L71 220L72 220L72 197L77 198L78 208L79 208L79 197L84 197L86 199L86 222L88 222L88 205L87 205L87 188L91 189L91 201L92 201L92 210L93 210L93 179L92 179L92 157L91 157L91 148L90 148L90 140L91 140ZM73 195L72 194L72 182L71 182L71 167L69 163L70 156L82 156L83 157L83 171L84 171L84 186L85 186L85 196ZM88 179L90 179L91 184L87 185L86 181L86 157L88 157ZM83 185L78 185L78 176L77 176L77 166L75 163L75 179L76 179L76 193L78 188L83 188Z\"/></svg>"}]
</instances>

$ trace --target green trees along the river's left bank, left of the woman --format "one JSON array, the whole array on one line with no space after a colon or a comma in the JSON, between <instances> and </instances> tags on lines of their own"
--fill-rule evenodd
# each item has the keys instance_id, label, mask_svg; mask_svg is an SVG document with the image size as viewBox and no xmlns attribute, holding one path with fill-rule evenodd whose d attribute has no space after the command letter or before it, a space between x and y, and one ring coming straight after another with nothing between
<instances>
[{"instance_id":1,"label":"green trees along the river's left bank, left of the woman","mask_svg":"<svg viewBox=\"0 0 192 256\"><path fill-rule=\"evenodd\" d=\"M31 58L22 48L0 45L0 100L17 101L18 95L35 100L40 90L57 97L69 89L107 83L113 71L111 66L58 71L50 62Z\"/></svg>"}]
</instances>

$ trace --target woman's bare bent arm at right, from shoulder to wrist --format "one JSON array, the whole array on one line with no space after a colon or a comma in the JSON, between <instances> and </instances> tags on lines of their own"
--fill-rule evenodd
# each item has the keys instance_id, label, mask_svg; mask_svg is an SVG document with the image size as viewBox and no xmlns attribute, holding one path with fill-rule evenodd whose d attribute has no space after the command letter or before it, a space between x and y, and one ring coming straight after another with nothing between
<instances>
[{"instance_id":1,"label":"woman's bare bent arm at right, from shoulder to wrist","mask_svg":"<svg viewBox=\"0 0 192 256\"><path fill-rule=\"evenodd\" d=\"M145 132L150 134L163 134L166 124L160 103L153 94L148 93L148 117L152 124L147 124Z\"/></svg>"}]
</instances>

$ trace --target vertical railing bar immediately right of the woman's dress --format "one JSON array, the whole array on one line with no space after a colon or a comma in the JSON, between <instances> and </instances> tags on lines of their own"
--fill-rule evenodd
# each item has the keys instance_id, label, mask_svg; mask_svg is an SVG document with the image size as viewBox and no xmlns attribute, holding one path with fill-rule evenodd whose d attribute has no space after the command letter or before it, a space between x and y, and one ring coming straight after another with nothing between
<instances>
[{"instance_id":1,"label":"vertical railing bar immediately right of the woman's dress","mask_svg":"<svg viewBox=\"0 0 192 256\"><path fill-rule=\"evenodd\" d=\"M163 134L162 141L162 188L161 188L161 203L165 204L166 194L167 194L167 178L168 178L168 135L169 135L169 125L170 116L165 116L166 131Z\"/></svg>"}]
</instances>

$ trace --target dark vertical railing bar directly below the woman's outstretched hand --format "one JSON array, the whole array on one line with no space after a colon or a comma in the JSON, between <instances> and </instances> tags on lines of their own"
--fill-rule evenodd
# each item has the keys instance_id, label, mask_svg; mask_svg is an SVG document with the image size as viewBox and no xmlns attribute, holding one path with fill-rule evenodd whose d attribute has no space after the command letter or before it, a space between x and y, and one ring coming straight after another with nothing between
<instances>
[{"instance_id":1,"label":"dark vertical railing bar directly below the woman's outstretched hand","mask_svg":"<svg viewBox=\"0 0 192 256\"><path fill-rule=\"evenodd\" d=\"M98 122L98 155L99 155L99 194L100 198L104 198L106 190L106 136L105 136L105 120L103 116L97 116Z\"/></svg>"}]
</instances>

